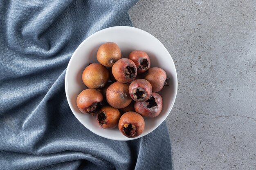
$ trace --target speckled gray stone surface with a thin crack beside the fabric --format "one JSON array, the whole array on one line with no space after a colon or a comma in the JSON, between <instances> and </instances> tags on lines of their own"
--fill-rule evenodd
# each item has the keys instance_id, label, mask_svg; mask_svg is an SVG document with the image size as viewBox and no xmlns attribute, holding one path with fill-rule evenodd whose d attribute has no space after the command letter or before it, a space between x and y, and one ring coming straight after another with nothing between
<instances>
[{"instance_id":1,"label":"speckled gray stone surface with a thin crack beside the fabric","mask_svg":"<svg viewBox=\"0 0 256 170\"><path fill-rule=\"evenodd\" d=\"M256 170L256 0L141 0L135 27L171 54L174 170Z\"/></svg>"}]
</instances>

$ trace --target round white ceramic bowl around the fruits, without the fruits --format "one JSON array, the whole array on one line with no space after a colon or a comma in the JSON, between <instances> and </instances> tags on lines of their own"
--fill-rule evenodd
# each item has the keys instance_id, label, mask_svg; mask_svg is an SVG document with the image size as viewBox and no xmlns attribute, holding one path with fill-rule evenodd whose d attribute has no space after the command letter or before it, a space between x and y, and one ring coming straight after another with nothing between
<instances>
[{"instance_id":1,"label":"round white ceramic bowl around the fruits, without the fruits","mask_svg":"<svg viewBox=\"0 0 256 170\"><path fill-rule=\"evenodd\" d=\"M76 97L87 88L82 81L82 72L89 63L98 63L97 50L105 42L117 43L121 49L122 57L128 57L129 53L134 50L145 51L150 57L151 67L164 69L169 78L169 86L159 92L163 98L162 112L155 118L145 118L144 132L135 138L125 137L118 130L118 127L112 130L101 128L97 124L96 115L85 115L79 111L76 105ZM152 132L169 115L177 94L177 73L171 55L153 35L130 26L114 26L92 34L77 47L67 66L65 92L72 112L83 126L101 137L127 141Z\"/></svg>"}]
</instances>

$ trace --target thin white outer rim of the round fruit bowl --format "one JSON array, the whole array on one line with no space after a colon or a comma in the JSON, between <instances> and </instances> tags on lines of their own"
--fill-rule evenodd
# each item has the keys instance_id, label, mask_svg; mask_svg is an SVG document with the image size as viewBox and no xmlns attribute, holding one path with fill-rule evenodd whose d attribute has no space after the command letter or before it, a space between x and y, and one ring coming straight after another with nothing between
<instances>
[{"instance_id":1,"label":"thin white outer rim of the round fruit bowl","mask_svg":"<svg viewBox=\"0 0 256 170\"><path fill-rule=\"evenodd\" d=\"M154 35L151 35L150 33L144 31L144 30L141 30L141 29L138 29L138 28L135 28L135 27L132 27L132 26L112 26L112 27L108 27L106 29L101 29L100 31L97 31L95 33L93 33L92 35L88 36L88 38L86 38L85 40L83 40L83 42L81 42L81 44L76 48L76 50L74 51L74 53L72 54L72 56L70 57L70 61L68 62L68 65L67 65L67 68L66 68L66 73L65 73L65 93L66 93L66 98L67 98L67 102L68 102L68 105L73 113L73 115L76 117L76 119L79 120L79 122L81 124L83 124L83 126L85 126L85 128L87 128L88 130L90 130L91 132L93 132L94 134L96 135L99 135L101 137L104 137L104 138L107 138L107 139L111 139L111 140L117 140L117 141L130 141L130 140L134 140L134 139L138 139L138 138L141 138L145 135L148 135L150 132L152 132L153 130L155 130L156 128L158 128L166 119L166 117L168 117L168 115L170 114L172 108L173 108L173 105L175 103L175 100L176 100L176 96L177 96L177 88L178 88L178 79L177 79L177 71L176 71L176 67L175 67L175 64L173 62L173 66L174 66L174 73L175 73L175 82L173 82L173 84L175 85L175 91L174 91L174 96L173 96L173 101L171 103L171 106L169 107L168 111L167 111L167 114L164 115L164 118L162 120L162 122L160 123L157 123L157 126L155 126L155 128L151 128L149 130L148 133L145 133L145 134L141 134L139 135L138 137L135 137L135 138L125 138L125 139L113 139L111 137L106 137L106 136L102 136L101 134L99 134L97 132L97 130L93 130L91 128L88 128L86 126L86 124L83 123L83 121L75 114L75 110L73 109L73 106L71 104L71 100L70 100L70 97L68 96L68 91L67 91L67 73L68 73L68 70L70 69L71 67L71 63L72 63L72 60L74 59L74 56L76 55L77 51L81 48L81 46L83 46L83 44L85 44L87 41L89 41L90 39L92 39L94 36L96 36L98 33L100 32L103 32L103 31L108 31L108 30L111 30L111 29L133 29L133 30L136 30L136 31L141 31L143 33L146 33L148 34L149 36L151 36L152 38L154 38L155 40L157 40L163 47L164 47L164 50L168 53L168 57L171 59L171 61L173 62L173 58L171 57L170 53L168 52L168 50L165 48L165 46L162 44L162 42L160 42L157 38L155 38Z\"/></svg>"}]
</instances>

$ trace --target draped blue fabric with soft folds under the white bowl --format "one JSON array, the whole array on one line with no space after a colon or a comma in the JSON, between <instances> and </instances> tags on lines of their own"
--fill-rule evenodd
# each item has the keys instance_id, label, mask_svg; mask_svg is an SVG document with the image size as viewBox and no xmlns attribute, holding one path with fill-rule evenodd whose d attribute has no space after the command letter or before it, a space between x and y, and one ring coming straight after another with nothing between
<instances>
[{"instance_id":1,"label":"draped blue fabric with soft folds under the white bowl","mask_svg":"<svg viewBox=\"0 0 256 170\"><path fill-rule=\"evenodd\" d=\"M145 137L113 141L86 129L65 97L65 69L92 33L132 23L135 0L0 1L0 170L164 170L165 122Z\"/></svg>"}]
</instances>

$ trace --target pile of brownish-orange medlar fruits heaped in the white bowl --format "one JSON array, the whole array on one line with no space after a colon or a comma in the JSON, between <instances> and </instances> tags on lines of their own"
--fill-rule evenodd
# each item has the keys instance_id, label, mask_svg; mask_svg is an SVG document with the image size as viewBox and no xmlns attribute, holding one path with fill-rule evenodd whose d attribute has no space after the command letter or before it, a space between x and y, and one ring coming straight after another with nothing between
<instances>
[{"instance_id":1,"label":"pile of brownish-orange medlar fruits heaped in the white bowl","mask_svg":"<svg viewBox=\"0 0 256 170\"><path fill-rule=\"evenodd\" d=\"M162 97L156 92L168 86L166 72L150 68L150 58L144 51L132 51L128 58L121 58L119 46L113 42L99 47L97 60L99 63L89 64L83 71L88 89L76 99L79 110L97 114L96 120L104 129L118 126L126 137L141 135L143 117L161 113Z\"/></svg>"}]
</instances>

